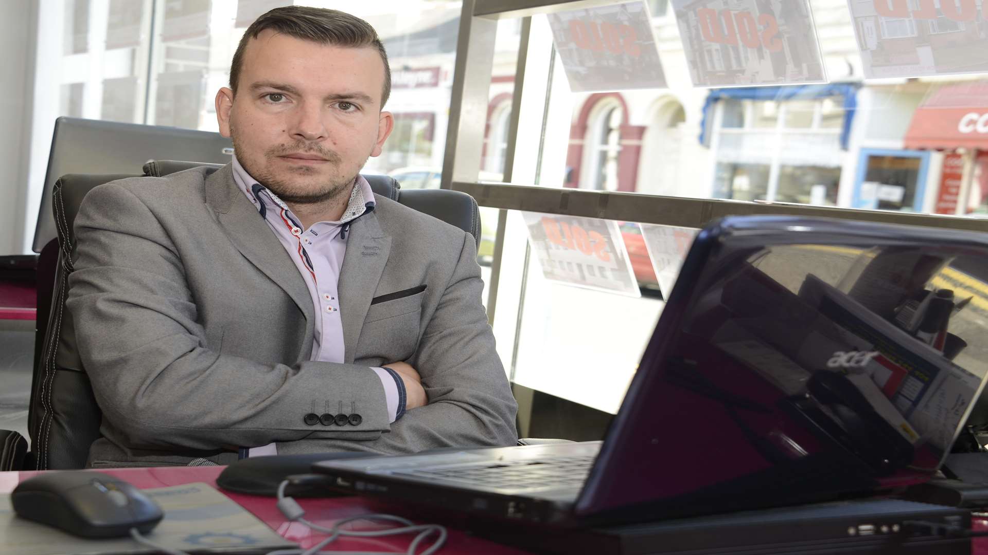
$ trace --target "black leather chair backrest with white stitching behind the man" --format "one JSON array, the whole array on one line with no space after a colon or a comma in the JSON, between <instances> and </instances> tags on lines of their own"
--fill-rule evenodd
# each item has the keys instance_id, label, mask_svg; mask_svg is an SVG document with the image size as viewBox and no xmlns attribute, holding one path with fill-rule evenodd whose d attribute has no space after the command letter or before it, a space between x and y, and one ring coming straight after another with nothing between
<instances>
[{"instance_id":1,"label":"black leather chair backrest with white stitching behind the man","mask_svg":"<svg viewBox=\"0 0 988 555\"><path fill-rule=\"evenodd\" d=\"M178 171L208 166L221 166L170 160L148 162L145 176L164 176ZM28 464L39 470L82 468L89 455L89 446L100 436L102 413L93 397L89 378L79 359L75 345L75 329L65 315L68 276L73 271L72 252L75 232L72 224L82 199L93 188L125 177L125 175L66 175L55 184L54 215L58 228L57 257L50 243L48 256L39 261L39 295L50 290L50 309L41 310L39 303L38 341L41 350L35 359L31 402L28 409L28 430L32 452ZM391 198L416 210L447 221L471 233L480 241L480 216L476 201L468 195L444 190L401 191L394 179L386 176L365 176L377 195ZM42 282L43 280L43 282ZM50 287L50 288L48 288Z\"/></svg>"}]
</instances>

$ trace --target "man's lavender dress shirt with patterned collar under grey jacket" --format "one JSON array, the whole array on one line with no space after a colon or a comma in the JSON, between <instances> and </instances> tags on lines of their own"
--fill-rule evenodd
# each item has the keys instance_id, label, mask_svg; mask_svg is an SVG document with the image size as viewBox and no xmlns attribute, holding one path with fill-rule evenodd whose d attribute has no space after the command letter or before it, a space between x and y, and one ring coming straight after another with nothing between
<instances>
[{"instance_id":1,"label":"man's lavender dress shirt with patterned collar under grey jacket","mask_svg":"<svg viewBox=\"0 0 988 555\"><path fill-rule=\"evenodd\" d=\"M315 337L312 342L312 360L343 362L343 320L340 318L340 301L337 284L343 256L347 252L347 229L351 221L359 218L374 206L371 184L363 176L357 176L347 209L337 221L319 221L308 229L301 229L297 217L277 195L268 191L244 170L233 157L233 181L240 191L257 207L261 216L288 251L308 286L315 307ZM403 403L404 382L390 368L369 368L377 373L384 388L387 412L394 422L405 412ZM350 413L352 407L315 407L315 412ZM248 456L276 454L275 443L249 449Z\"/></svg>"}]
</instances>

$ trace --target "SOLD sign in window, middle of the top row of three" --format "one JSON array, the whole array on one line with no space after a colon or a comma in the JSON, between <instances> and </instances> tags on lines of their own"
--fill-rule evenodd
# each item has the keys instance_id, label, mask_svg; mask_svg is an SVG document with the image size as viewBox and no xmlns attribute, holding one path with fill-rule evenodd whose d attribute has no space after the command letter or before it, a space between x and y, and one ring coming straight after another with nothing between
<instances>
[{"instance_id":1,"label":"SOLD sign in window, middle of the top row of three","mask_svg":"<svg viewBox=\"0 0 988 555\"><path fill-rule=\"evenodd\" d=\"M693 84L822 83L808 0L673 0Z\"/></svg>"}]
</instances>

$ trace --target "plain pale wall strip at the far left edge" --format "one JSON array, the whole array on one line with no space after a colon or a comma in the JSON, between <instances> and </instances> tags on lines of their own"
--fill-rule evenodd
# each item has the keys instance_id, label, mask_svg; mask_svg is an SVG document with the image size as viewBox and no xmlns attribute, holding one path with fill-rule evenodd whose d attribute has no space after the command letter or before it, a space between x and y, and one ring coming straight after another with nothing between
<instances>
[{"instance_id":1,"label":"plain pale wall strip at the far left edge","mask_svg":"<svg viewBox=\"0 0 988 555\"><path fill-rule=\"evenodd\" d=\"M28 197L28 137L31 113L31 58L35 2L5 0L0 18L0 255L23 249Z\"/></svg>"}]
</instances>

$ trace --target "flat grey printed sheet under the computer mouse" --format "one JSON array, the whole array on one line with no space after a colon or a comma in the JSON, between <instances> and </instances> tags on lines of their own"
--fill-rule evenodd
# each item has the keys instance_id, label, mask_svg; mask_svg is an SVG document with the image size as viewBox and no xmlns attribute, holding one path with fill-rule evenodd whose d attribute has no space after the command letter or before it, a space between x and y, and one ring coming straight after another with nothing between
<instances>
[{"instance_id":1,"label":"flat grey printed sheet under the computer mouse","mask_svg":"<svg viewBox=\"0 0 988 555\"><path fill-rule=\"evenodd\" d=\"M195 553L267 553L295 547L208 484L184 484L143 492L165 513L147 537L166 547ZM10 495L0 495L0 553L4 555L153 552L128 537L83 539L21 518L14 514Z\"/></svg>"}]
</instances>

